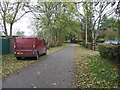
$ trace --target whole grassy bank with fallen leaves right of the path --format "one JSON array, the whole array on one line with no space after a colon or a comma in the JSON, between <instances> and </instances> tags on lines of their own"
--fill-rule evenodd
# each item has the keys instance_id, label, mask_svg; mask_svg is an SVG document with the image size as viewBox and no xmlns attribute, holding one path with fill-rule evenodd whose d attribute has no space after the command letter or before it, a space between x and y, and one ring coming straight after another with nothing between
<instances>
[{"instance_id":1,"label":"whole grassy bank with fallen leaves right of the path","mask_svg":"<svg viewBox=\"0 0 120 90\"><path fill-rule=\"evenodd\" d=\"M99 56L97 51L76 47L77 88L118 88L118 67Z\"/></svg>"}]
</instances>

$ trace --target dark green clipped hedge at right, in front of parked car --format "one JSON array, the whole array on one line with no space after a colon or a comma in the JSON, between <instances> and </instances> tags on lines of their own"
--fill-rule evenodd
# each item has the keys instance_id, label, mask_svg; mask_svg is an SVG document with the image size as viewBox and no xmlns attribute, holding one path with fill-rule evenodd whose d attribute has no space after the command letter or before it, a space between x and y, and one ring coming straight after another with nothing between
<instances>
[{"instance_id":1,"label":"dark green clipped hedge at right, in front of parked car","mask_svg":"<svg viewBox=\"0 0 120 90\"><path fill-rule=\"evenodd\" d=\"M120 45L100 44L98 51L103 58L120 59Z\"/></svg>"}]
</instances>

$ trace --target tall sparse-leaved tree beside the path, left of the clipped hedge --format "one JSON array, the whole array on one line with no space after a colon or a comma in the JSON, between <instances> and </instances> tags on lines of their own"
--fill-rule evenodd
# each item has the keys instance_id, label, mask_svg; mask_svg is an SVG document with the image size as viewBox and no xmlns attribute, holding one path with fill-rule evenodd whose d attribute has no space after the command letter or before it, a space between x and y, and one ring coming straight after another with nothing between
<instances>
[{"instance_id":1,"label":"tall sparse-leaved tree beside the path, left of the clipped hedge","mask_svg":"<svg viewBox=\"0 0 120 90\"><path fill-rule=\"evenodd\" d=\"M85 41L87 38L91 38L93 43L93 49L95 49L96 40L99 36L101 21L104 15L111 15L114 11L115 3L111 2L82 2L84 14L80 13L81 21L85 24L82 25L83 32L85 33ZM112 7L110 5L112 4ZM112 13L110 13L112 12Z\"/></svg>"}]
</instances>

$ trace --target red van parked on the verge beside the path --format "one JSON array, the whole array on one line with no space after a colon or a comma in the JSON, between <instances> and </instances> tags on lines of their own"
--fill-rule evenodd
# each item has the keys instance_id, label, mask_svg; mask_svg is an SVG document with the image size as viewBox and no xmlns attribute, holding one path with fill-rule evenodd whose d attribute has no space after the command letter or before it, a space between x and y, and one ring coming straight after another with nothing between
<instances>
[{"instance_id":1,"label":"red van parked on the verge beside the path","mask_svg":"<svg viewBox=\"0 0 120 90\"><path fill-rule=\"evenodd\" d=\"M23 57L34 57L36 60L39 55L46 55L47 48L44 39L16 37L14 42L14 55L19 60Z\"/></svg>"}]
</instances>

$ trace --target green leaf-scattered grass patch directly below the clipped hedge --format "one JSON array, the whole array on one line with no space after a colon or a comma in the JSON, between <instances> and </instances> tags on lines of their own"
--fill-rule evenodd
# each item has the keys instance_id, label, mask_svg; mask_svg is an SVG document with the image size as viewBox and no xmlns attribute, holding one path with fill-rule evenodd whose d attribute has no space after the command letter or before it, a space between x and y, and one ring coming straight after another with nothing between
<instances>
[{"instance_id":1,"label":"green leaf-scattered grass patch directly below the clipped hedge","mask_svg":"<svg viewBox=\"0 0 120 90\"><path fill-rule=\"evenodd\" d=\"M118 88L120 76L118 67L99 55L87 56L92 88Z\"/></svg>"}]
</instances>

